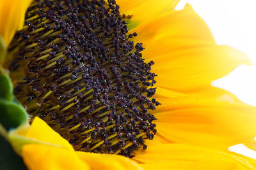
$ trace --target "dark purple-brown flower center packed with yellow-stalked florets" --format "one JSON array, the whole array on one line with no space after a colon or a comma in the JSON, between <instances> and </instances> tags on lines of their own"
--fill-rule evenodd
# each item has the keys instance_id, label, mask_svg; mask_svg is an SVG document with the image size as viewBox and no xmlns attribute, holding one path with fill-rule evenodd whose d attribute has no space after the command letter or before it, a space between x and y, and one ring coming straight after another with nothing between
<instances>
[{"instance_id":1,"label":"dark purple-brown flower center packed with yellow-stalked florets","mask_svg":"<svg viewBox=\"0 0 256 170\"><path fill-rule=\"evenodd\" d=\"M131 157L156 134L154 62L115 0L37 0L10 46L15 95L75 150Z\"/></svg>"}]
</instances>

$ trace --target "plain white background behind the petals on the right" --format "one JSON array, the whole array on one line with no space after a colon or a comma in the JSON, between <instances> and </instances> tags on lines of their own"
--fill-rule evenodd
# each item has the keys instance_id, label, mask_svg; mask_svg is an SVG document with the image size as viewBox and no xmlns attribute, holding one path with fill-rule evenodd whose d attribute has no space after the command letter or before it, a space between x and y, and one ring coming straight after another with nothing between
<instances>
[{"instance_id":1,"label":"plain white background behind the petals on the right","mask_svg":"<svg viewBox=\"0 0 256 170\"><path fill-rule=\"evenodd\" d=\"M186 3L205 20L216 43L238 48L253 62L253 66L239 66L212 85L256 106L256 0L181 0L176 10L184 8ZM229 150L256 159L256 152L244 145L232 146Z\"/></svg>"}]
</instances>

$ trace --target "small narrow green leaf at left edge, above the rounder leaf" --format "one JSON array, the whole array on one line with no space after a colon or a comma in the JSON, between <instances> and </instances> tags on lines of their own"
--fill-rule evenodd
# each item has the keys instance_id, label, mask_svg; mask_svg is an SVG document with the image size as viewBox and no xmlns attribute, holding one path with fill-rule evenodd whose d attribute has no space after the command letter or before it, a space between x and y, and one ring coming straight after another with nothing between
<instances>
[{"instance_id":1,"label":"small narrow green leaf at left edge, above the rounder leaf","mask_svg":"<svg viewBox=\"0 0 256 170\"><path fill-rule=\"evenodd\" d=\"M13 100L13 85L7 74L0 76L0 99Z\"/></svg>"}]
</instances>

